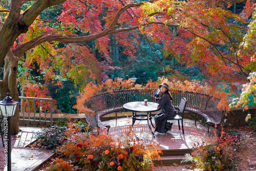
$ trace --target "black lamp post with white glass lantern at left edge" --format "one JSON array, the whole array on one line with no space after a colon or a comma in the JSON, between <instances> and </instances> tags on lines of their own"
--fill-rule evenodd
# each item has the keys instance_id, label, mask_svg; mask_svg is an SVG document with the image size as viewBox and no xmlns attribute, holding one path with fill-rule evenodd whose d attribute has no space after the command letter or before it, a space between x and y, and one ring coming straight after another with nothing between
<instances>
[{"instance_id":1,"label":"black lamp post with white glass lantern at left edge","mask_svg":"<svg viewBox=\"0 0 256 171\"><path fill-rule=\"evenodd\" d=\"M7 170L10 171L11 168L11 117L14 115L18 102L14 101L10 96L10 93L7 93L7 97L0 101L1 113L7 117Z\"/></svg>"}]
</instances>

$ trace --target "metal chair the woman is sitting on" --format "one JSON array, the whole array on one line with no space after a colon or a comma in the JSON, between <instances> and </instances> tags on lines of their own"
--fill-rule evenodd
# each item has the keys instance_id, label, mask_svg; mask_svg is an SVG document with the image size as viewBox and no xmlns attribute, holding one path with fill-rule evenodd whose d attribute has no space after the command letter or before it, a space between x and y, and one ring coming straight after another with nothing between
<instances>
[{"instance_id":1,"label":"metal chair the woman is sitting on","mask_svg":"<svg viewBox=\"0 0 256 171\"><path fill-rule=\"evenodd\" d=\"M182 133L184 134L184 127L183 127L183 116L184 116L184 111L185 111L185 108L186 108L186 104L187 104L187 100L185 97L182 97L181 98L181 101L180 101L180 105L178 107L178 111L177 112L177 115L173 118L173 117L167 117L166 118L166 123L169 121L169 120L178 120L178 124L179 124L179 130L180 130L180 120L181 120L181 126L182 126Z\"/></svg>"}]
</instances>

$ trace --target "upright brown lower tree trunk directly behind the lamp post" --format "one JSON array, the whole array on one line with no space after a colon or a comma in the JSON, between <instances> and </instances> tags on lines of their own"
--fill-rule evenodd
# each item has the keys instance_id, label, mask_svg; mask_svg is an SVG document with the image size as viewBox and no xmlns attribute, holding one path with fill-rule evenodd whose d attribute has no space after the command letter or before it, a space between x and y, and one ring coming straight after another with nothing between
<instances>
[{"instance_id":1,"label":"upright brown lower tree trunk directly behind the lamp post","mask_svg":"<svg viewBox=\"0 0 256 171\"><path fill-rule=\"evenodd\" d=\"M16 76L18 71L18 58L13 56L11 50L6 55L4 77L0 82L0 98L3 100L9 92L11 97L15 100L19 100L18 90L16 86ZM11 118L11 134L15 135L19 132L19 105L17 105L14 116Z\"/></svg>"}]
</instances>

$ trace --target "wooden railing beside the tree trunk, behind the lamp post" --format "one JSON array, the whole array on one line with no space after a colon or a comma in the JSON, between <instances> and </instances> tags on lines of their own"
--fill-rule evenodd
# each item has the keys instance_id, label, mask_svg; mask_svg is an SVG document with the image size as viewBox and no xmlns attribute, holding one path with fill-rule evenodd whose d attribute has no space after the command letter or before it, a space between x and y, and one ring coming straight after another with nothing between
<instances>
[{"instance_id":1,"label":"wooden railing beside the tree trunk, behind the lamp post","mask_svg":"<svg viewBox=\"0 0 256 171\"><path fill-rule=\"evenodd\" d=\"M19 96L19 109L22 121L34 122L49 122L52 126L52 99L51 98L37 98L37 97L23 97ZM46 115L50 114L50 120L47 120ZM41 119L44 118L44 119Z\"/></svg>"}]
</instances>

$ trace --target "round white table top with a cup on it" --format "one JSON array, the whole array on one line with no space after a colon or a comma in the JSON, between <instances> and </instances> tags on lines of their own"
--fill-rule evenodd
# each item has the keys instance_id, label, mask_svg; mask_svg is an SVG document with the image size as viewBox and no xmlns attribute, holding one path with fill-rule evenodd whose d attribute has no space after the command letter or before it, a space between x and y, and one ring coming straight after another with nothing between
<instances>
[{"instance_id":1,"label":"round white table top with a cup on it","mask_svg":"<svg viewBox=\"0 0 256 171\"><path fill-rule=\"evenodd\" d=\"M133 101L123 104L123 108L132 112L155 112L161 109L158 103L144 101Z\"/></svg>"}]
</instances>

